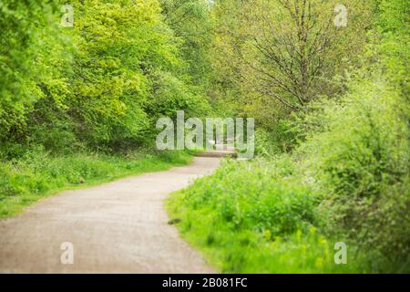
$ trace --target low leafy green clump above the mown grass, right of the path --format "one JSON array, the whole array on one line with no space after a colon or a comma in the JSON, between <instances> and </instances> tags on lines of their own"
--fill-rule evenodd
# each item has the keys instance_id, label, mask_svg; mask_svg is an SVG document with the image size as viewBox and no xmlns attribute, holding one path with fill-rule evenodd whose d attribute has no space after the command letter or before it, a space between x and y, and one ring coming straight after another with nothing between
<instances>
[{"instance_id":1,"label":"low leafy green clump above the mown grass, right of the path","mask_svg":"<svg viewBox=\"0 0 410 292\"><path fill-rule=\"evenodd\" d=\"M274 179L274 172L258 162L227 162L209 178L194 183L185 193L185 203L194 210L209 208L215 220L233 230L292 234L312 222L314 197L292 182L282 185L272 183Z\"/></svg>"}]
</instances>

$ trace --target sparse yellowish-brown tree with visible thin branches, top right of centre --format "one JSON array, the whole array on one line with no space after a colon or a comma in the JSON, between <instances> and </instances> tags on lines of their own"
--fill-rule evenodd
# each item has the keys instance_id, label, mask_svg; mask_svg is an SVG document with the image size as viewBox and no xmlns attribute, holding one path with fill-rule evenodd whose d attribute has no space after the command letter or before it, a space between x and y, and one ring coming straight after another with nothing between
<instances>
[{"instance_id":1,"label":"sparse yellowish-brown tree with visible thin branches, top right of centre","mask_svg":"<svg viewBox=\"0 0 410 292\"><path fill-rule=\"evenodd\" d=\"M337 95L333 77L364 46L369 12L362 1L345 2L348 24L340 27L334 24L337 1L248 0L240 8L235 1L218 4L217 9L233 7L236 14L230 17L236 27L224 34L231 35L232 57L240 59L238 84L288 110L301 110L319 95Z\"/></svg>"}]
</instances>

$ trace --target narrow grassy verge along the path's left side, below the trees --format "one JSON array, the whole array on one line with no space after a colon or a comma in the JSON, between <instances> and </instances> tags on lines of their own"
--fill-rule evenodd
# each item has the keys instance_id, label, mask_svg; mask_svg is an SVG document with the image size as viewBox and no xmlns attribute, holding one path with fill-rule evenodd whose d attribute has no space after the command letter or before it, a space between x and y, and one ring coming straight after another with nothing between
<instances>
[{"instance_id":1,"label":"narrow grassy verge along the path's left side, below the trees","mask_svg":"<svg viewBox=\"0 0 410 292\"><path fill-rule=\"evenodd\" d=\"M190 162L184 151L157 154L135 152L125 156L73 154L53 157L32 151L13 162L0 162L0 218L61 190L106 183L143 172L159 172Z\"/></svg>"}]
</instances>

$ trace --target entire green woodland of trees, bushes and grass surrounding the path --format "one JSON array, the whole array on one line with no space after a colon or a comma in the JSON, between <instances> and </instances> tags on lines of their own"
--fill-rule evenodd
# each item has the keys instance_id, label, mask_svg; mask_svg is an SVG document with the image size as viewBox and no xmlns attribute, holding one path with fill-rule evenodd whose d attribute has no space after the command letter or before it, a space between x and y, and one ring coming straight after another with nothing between
<instances>
[{"instance_id":1,"label":"entire green woodland of trees, bushes and grass surrounding the path","mask_svg":"<svg viewBox=\"0 0 410 292\"><path fill-rule=\"evenodd\" d=\"M409 273L406 0L1 0L0 217L189 163L161 117L254 118L255 155L171 193L223 273ZM335 265L335 245L348 248Z\"/></svg>"}]
</instances>

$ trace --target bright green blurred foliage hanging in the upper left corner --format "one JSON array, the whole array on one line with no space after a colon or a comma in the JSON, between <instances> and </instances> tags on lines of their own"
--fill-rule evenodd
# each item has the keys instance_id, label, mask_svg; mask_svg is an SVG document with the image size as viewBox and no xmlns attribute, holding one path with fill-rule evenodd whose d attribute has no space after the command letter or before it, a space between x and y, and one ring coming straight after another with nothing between
<instances>
[{"instance_id":1,"label":"bright green blurred foliage hanging in the upper left corner","mask_svg":"<svg viewBox=\"0 0 410 292\"><path fill-rule=\"evenodd\" d=\"M0 3L0 141L20 139L36 100L48 95L57 101L67 92L58 70L69 61L56 25L58 8L53 1Z\"/></svg>"}]
</instances>

